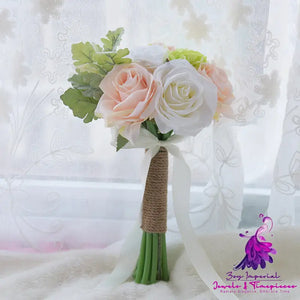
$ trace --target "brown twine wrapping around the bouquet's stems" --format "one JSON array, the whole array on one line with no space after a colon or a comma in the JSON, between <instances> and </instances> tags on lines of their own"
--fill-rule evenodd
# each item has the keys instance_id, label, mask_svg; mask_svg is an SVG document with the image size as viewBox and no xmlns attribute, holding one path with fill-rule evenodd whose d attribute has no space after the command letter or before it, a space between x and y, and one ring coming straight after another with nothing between
<instances>
[{"instance_id":1,"label":"brown twine wrapping around the bouquet's stems","mask_svg":"<svg viewBox=\"0 0 300 300\"><path fill-rule=\"evenodd\" d=\"M142 226L145 232L167 231L168 151L160 147L151 159L143 197Z\"/></svg>"}]
</instances>

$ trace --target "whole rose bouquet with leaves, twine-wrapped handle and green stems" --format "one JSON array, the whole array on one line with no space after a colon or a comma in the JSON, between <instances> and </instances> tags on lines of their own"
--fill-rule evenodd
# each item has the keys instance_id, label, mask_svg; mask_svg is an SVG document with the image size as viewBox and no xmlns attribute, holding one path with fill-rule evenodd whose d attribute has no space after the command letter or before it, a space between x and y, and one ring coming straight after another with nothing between
<instances>
[{"instance_id":1,"label":"whole rose bouquet with leaves, twine-wrapped handle and green stems","mask_svg":"<svg viewBox=\"0 0 300 300\"><path fill-rule=\"evenodd\" d=\"M109 31L102 46L72 45L76 74L61 99L85 123L104 119L113 129L117 151L140 147L151 155L133 274L137 283L151 284L169 279L168 152L176 152L170 145L197 135L213 119L230 116L234 97L226 73L200 52L160 44L118 49L123 31Z\"/></svg>"}]
</instances>

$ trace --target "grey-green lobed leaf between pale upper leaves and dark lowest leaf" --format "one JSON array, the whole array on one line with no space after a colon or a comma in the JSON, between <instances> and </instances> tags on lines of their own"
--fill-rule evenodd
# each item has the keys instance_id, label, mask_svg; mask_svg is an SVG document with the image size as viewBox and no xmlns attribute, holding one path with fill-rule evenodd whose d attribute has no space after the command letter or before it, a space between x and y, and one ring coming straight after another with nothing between
<instances>
[{"instance_id":1,"label":"grey-green lobed leaf between pale upper leaves and dark lowest leaf","mask_svg":"<svg viewBox=\"0 0 300 300\"><path fill-rule=\"evenodd\" d=\"M98 74L83 72L73 75L68 80L75 89L82 92L83 96L93 97L95 100L99 100L103 94L99 88L102 79L103 77Z\"/></svg>"}]
</instances>

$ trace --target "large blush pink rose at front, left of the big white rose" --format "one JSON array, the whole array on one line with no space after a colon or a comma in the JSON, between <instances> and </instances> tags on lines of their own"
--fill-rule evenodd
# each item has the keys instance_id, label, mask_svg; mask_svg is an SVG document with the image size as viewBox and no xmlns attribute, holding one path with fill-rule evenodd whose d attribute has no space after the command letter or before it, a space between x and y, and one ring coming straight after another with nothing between
<instances>
[{"instance_id":1,"label":"large blush pink rose at front, left of the big white rose","mask_svg":"<svg viewBox=\"0 0 300 300\"><path fill-rule=\"evenodd\" d=\"M128 140L135 140L143 121L152 117L160 85L144 67L116 65L100 83L103 91L95 111L106 126L116 127Z\"/></svg>"}]
</instances>

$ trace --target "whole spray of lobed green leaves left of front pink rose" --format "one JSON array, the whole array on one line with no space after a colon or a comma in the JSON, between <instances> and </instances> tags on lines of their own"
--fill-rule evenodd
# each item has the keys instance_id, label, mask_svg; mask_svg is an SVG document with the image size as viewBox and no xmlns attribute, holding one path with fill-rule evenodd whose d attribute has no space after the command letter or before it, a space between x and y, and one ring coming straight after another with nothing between
<instances>
[{"instance_id":1,"label":"whole spray of lobed green leaves left of front pink rose","mask_svg":"<svg viewBox=\"0 0 300 300\"><path fill-rule=\"evenodd\" d=\"M72 57L78 74L69 78L73 88L68 89L61 99L72 109L74 116L85 123L97 119L94 112L103 94L99 88L101 80L114 65L131 62L130 58L125 57L129 54L127 48L117 50L123 33L123 28L109 31L106 38L101 39L103 47L90 42L72 45Z\"/></svg>"}]
</instances>

